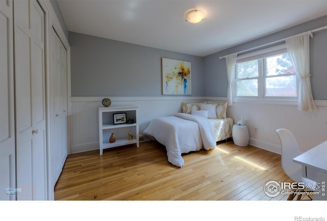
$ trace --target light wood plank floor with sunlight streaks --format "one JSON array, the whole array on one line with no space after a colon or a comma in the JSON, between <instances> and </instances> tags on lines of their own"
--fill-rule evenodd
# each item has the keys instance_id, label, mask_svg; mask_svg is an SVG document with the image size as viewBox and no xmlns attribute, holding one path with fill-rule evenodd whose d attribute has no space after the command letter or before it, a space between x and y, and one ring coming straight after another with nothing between
<instances>
[{"instance_id":1,"label":"light wood plank floor with sunlight streaks","mask_svg":"<svg viewBox=\"0 0 327 221\"><path fill-rule=\"evenodd\" d=\"M179 168L155 141L69 155L55 186L55 200L286 200L268 197L271 180L291 182L281 156L254 146L222 142L211 151L183 155Z\"/></svg>"}]
</instances>

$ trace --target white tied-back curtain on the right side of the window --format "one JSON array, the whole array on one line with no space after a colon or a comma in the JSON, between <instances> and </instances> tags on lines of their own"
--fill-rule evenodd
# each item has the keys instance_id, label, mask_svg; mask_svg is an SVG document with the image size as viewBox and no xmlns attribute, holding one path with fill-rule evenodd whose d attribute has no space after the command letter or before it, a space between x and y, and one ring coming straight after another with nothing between
<instances>
[{"instance_id":1,"label":"white tied-back curtain on the right side of the window","mask_svg":"<svg viewBox=\"0 0 327 221\"><path fill-rule=\"evenodd\" d=\"M314 111L317 109L313 101L310 83L310 36L312 36L312 33L307 32L286 39L288 54L296 75L300 79L298 110L302 111Z\"/></svg>"}]
</instances>

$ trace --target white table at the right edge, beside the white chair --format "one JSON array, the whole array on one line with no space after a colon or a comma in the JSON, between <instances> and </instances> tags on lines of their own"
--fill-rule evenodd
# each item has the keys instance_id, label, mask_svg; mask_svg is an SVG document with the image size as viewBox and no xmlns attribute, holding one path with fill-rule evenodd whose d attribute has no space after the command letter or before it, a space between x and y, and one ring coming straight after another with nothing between
<instances>
[{"instance_id":1,"label":"white table at the right edge, beside the white chair","mask_svg":"<svg viewBox=\"0 0 327 221\"><path fill-rule=\"evenodd\" d=\"M327 141L295 157L293 162L302 165L302 176L323 185L327 183ZM327 189L325 188L325 194ZM322 190L323 191L323 190ZM315 195L314 200L327 200L327 196Z\"/></svg>"}]
</instances>

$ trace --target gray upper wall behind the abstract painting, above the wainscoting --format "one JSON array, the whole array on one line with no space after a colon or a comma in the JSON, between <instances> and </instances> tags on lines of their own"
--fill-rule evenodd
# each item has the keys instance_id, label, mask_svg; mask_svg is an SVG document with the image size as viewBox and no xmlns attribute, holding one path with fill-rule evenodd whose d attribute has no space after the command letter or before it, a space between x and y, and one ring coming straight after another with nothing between
<instances>
[{"instance_id":1,"label":"gray upper wall behind the abstract painting, above the wainscoting","mask_svg":"<svg viewBox=\"0 0 327 221\"><path fill-rule=\"evenodd\" d=\"M72 96L160 96L161 58L190 61L192 96L204 96L203 58L69 32Z\"/></svg>"}]
</instances>

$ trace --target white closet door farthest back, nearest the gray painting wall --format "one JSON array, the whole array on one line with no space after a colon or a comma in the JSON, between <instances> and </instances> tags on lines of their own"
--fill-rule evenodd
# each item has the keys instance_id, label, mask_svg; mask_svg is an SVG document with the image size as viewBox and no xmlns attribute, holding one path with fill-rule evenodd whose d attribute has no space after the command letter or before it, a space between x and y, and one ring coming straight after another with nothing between
<instances>
[{"instance_id":1,"label":"white closet door farthest back, nearest the gray painting wall","mask_svg":"<svg viewBox=\"0 0 327 221\"><path fill-rule=\"evenodd\" d=\"M52 187L55 186L68 154L67 129L67 56L66 48L52 29L52 58L50 72Z\"/></svg>"}]
</instances>

